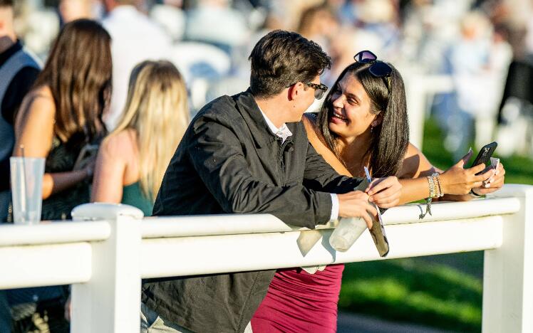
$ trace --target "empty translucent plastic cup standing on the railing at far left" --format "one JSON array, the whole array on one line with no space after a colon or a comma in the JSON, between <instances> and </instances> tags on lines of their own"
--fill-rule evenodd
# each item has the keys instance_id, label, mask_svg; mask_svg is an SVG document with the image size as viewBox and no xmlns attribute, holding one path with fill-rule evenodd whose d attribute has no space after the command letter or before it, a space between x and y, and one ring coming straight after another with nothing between
<instances>
[{"instance_id":1,"label":"empty translucent plastic cup standing on the railing at far left","mask_svg":"<svg viewBox=\"0 0 533 333\"><path fill-rule=\"evenodd\" d=\"M15 224L41 221L44 161L42 157L11 157L11 199Z\"/></svg>"}]
</instances>

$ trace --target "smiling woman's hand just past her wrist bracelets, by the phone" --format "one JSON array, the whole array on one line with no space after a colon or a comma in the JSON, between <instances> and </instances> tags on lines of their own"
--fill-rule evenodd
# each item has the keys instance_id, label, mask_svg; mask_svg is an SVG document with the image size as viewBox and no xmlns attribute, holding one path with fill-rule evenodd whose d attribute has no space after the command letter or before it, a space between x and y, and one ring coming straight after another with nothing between
<instances>
[{"instance_id":1,"label":"smiling woman's hand just past her wrist bracelets, by the phone","mask_svg":"<svg viewBox=\"0 0 533 333\"><path fill-rule=\"evenodd\" d=\"M440 186L445 194L464 195L470 193L471 189L482 186L484 181L488 181L494 174L493 169L476 176L478 172L485 169L485 164L472 166L470 169L464 169L465 162L472 157L472 152L465 155L450 169L440 175Z\"/></svg>"}]
</instances>

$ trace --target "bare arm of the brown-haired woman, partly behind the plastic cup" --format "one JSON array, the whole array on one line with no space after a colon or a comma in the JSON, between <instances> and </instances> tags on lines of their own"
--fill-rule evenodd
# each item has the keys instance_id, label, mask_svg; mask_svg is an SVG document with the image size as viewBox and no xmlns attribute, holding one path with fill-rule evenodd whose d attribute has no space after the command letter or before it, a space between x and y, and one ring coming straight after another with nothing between
<instances>
[{"instance_id":1,"label":"bare arm of the brown-haired woman, partly behind the plastic cup","mask_svg":"<svg viewBox=\"0 0 533 333\"><path fill-rule=\"evenodd\" d=\"M43 90L42 88L41 90ZM13 156L48 156L52 146L53 122L56 107L51 95L30 93L22 103L21 111L15 122L15 148ZM64 191L90 176L90 169L44 174L43 199L51 194Z\"/></svg>"}]
</instances>

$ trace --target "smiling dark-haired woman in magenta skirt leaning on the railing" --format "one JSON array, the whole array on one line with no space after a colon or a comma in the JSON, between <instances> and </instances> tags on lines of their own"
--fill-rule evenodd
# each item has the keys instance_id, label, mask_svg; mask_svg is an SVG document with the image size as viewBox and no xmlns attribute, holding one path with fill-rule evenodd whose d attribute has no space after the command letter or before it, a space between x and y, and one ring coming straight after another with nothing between
<instances>
[{"instance_id":1,"label":"smiling dark-haired woman in magenta skirt leaning on the railing","mask_svg":"<svg viewBox=\"0 0 533 333\"><path fill-rule=\"evenodd\" d=\"M427 176L441 171L408 142L400 73L368 51L355 58L356 63L336 80L318 117L304 117L309 141L340 174L363 176L367 166L373 178L398 176L403 186L400 203L428 198ZM445 199L468 200L472 189L486 194L502 186L502 164L497 174L491 169L480 176L475 174L485 166L463 169L463 164L460 161L438 176ZM368 194L378 206L387 203L379 193ZM252 318L254 332L335 332L343 268L328 265L314 275L300 269L278 270Z\"/></svg>"}]
</instances>

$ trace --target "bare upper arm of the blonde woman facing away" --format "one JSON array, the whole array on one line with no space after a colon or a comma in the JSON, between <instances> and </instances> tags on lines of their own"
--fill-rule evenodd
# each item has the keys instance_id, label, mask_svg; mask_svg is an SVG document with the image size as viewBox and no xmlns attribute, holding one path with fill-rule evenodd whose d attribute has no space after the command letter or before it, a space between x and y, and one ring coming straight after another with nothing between
<instances>
[{"instance_id":1,"label":"bare upper arm of the blonde woman facing away","mask_svg":"<svg viewBox=\"0 0 533 333\"><path fill-rule=\"evenodd\" d=\"M96 158L91 202L120 203L122 201L124 174L126 171L121 135L106 137Z\"/></svg>"}]
</instances>

